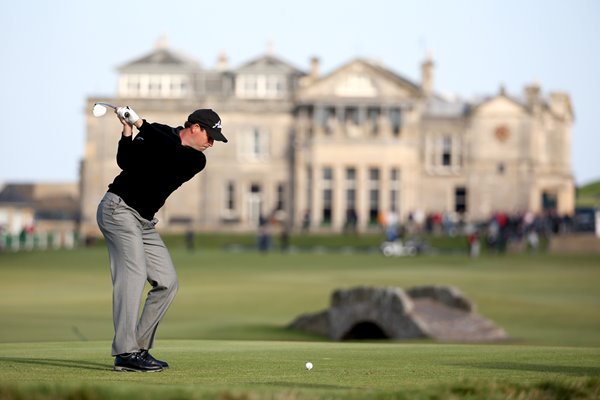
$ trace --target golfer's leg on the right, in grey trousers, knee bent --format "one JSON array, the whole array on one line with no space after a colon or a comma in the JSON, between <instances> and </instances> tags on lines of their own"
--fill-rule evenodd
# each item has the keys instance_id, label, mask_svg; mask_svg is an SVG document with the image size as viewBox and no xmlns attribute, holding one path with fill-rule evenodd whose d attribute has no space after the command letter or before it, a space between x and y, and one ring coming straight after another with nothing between
<instances>
[{"instance_id":1,"label":"golfer's leg on the right, in grey trousers, knee bent","mask_svg":"<svg viewBox=\"0 0 600 400\"><path fill-rule=\"evenodd\" d=\"M160 235L152 226L144 230L146 271L152 288L148 292L138 328L137 340L142 349L150 349L159 322L175 298L179 287L171 256Z\"/></svg>"}]
</instances>

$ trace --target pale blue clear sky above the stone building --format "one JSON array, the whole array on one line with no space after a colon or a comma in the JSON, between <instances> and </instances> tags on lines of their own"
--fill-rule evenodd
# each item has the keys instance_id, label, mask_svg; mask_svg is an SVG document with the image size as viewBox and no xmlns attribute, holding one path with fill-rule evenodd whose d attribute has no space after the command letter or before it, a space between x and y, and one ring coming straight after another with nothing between
<instances>
[{"instance_id":1,"label":"pale blue clear sky above the stone building","mask_svg":"<svg viewBox=\"0 0 600 400\"><path fill-rule=\"evenodd\" d=\"M20 0L0 3L0 183L75 182L90 96L115 96L119 66L161 37L207 68L264 54L327 74L356 57L462 98L569 93L575 182L600 179L597 0Z\"/></svg>"}]
</instances>

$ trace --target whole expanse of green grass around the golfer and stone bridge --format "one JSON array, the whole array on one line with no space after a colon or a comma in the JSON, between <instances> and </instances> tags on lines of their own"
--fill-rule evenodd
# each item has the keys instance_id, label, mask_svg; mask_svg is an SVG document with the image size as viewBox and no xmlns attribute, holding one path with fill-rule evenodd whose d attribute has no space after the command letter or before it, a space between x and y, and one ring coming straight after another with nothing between
<instances>
[{"instance_id":1,"label":"whole expanse of green grass around the golfer and stone bridge","mask_svg":"<svg viewBox=\"0 0 600 400\"><path fill-rule=\"evenodd\" d=\"M111 371L106 250L0 254L0 399L600 398L600 257L188 253L157 374ZM290 331L354 285L449 284L508 343L332 343ZM312 371L304 369L312 361Z\"/></svg>"}]
</instances>

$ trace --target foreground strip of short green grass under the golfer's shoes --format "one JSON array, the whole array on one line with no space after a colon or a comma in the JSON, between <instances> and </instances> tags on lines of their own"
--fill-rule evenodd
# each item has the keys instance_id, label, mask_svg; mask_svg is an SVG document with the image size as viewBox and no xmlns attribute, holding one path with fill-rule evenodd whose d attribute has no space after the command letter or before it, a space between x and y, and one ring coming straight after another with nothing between
<instances>
[{"instance_id":1,"label":"foreground strip of short green grass under the golfer's shoes","mask_svg":"<svg viewBox=\"0 0 600 400\"><path fill-rule=\"evenodd\" d=\"M525 397L513 398L547 399L561 398L561 391L572 397L600 395L597 348L166 340L158 343L156 355L172 367L139 374L111 371L109 345L0 345L0 398L7 398L2 390L91 399L505 399L514 393ZM304 368L307 360L314 364L311 371Z\"/></svg>"}]
</instances>

